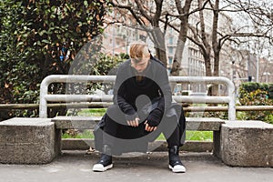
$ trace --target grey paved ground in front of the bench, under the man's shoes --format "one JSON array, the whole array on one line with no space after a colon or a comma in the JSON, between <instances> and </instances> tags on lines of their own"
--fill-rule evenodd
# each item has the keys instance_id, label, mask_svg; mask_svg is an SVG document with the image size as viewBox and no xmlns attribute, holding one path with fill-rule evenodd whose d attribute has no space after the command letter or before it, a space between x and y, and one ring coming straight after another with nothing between
<instances>
[{"instance_id":1,"label":"grey paved ground in front of the bench, under the man's shoes","mask_svg":"<svg viewBox=\"0 0 273 182\"><path fill-rule=\"evenodd\" d=\"M114 168L93 172L99 155L64 151L52 163L41 166L1 165L1 182L271 182L273 168L227 167L207 153L185 153L181 158L187 173L174 174L167 168L167 153L114 158Z\"/></svg>"}]
</instances>

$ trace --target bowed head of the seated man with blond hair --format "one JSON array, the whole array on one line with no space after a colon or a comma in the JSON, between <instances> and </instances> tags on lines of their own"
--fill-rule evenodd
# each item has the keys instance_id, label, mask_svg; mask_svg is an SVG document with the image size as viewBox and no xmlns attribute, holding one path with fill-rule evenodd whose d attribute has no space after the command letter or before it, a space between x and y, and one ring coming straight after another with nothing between
<instances>
[{"instance_id":1,"label":"bowed head of the seated man with blond hair","mask_svg":"<svg viewBox=\"0 0 273 182\"><path fill-rule=\"evenodd\" d=\"M143 41L137 41L130 44L129 50L130 57L136 62L140 61L141 58L149 56L148 45ZM138 60L138 61L137 61Z\"/></svg>"}]
</instances>

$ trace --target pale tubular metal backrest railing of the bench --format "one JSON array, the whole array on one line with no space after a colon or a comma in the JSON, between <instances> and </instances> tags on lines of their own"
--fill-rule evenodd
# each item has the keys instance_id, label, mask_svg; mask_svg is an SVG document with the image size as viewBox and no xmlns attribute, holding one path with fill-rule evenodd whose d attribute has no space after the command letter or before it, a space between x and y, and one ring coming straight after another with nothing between
<instances>
[{"instance_id":1,"label":"pale tubular metal backrest railing of the bench","mask_svg":"<svg viewBox=\"0 0 273 182\"><path fill-rule=\"evenodd\" d=\"M103 82L113 83L116 76L76 76L76 75L51 75L46 76L40 87L39 116L47 117L47 102L111 102L113 96L95 95L49 95L48 86L52 83L80 83L80 82ZM227 96L173 96L178 103L218 103L228 104L228 120L236 120L235 86L221 76L169 76L171 83L205 83L222 84L227 86Z\"/></svg>"}]
</instances>

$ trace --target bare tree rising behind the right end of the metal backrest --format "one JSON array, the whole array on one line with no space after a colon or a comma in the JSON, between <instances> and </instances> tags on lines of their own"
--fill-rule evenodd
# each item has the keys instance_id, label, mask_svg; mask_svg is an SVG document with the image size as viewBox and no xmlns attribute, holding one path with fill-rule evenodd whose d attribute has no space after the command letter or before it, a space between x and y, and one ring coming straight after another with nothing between
<instances>
[{"instance_id":1,"label":"bare tree rising behind the right end of the metal backrest","mask_svg":"<svg viewBox=\"0 0 273 182\"><path fill-rule=\"evenodd\" d=\"M199 8L206 3L204 0L198 0ZM255 1L211 0L206 8L200 8L199 22L195 26L189 26L192 36L188 36L188 39L198 45L204 57L206 76L219 76L221 50L223 47L227 49L227 42L229 47L235 45L240 47L246 43L249 44L248 40L254 37L255 39L266 38L268 45L272 44L273 15L272 10L268 10L267 7L268 5L264 5L264 2L258 4ZM204 24L204 11L211 11L213 15L210 33L205 32L207 24ZM240 22L235 26L230 22L230 27L223 30L219 27L221 23L219 15L223 16L224 13L232 14L234 17L244 15L248 19L248 24ZM217 94L217 86L215 86L214 94Z\"/></svg>"}]
</instances>

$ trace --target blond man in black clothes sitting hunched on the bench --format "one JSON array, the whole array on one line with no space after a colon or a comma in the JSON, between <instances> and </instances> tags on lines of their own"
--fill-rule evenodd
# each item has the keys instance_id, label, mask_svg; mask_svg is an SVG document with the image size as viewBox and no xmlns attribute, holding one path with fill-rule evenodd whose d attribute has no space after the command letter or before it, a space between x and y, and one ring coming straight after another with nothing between
<instances>
[{"instance_id":1,"label":"blond man in black clothes sitting hunched on the bench","mask_svg":"<svg viewBox=\"0 0 273 182\"><path fill-rule=\"evenodd\" d=\"M102 156L93 171L113 167L113 155L147 152L148 142L163 133L167 138L168 167L173 172L186 172L179 157L186 119L182 107L172 103L166 66L151 56L144 42L132 43L129 51L130 59L116 73L114 105L108 107L98 128L102 135L95 135L95 141L101 140L101 144L96 142L96 149Z\"/></svg>"}]
</instances>

